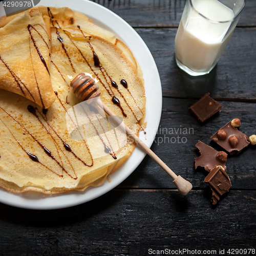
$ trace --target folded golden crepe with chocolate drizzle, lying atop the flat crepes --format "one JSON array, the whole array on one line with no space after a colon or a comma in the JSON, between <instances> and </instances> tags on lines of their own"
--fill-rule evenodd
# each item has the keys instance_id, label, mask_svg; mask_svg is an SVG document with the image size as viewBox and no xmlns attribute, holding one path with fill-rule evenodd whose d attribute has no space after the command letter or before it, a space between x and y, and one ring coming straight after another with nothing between
<instances>
[{"instance_id":1,"label":"folded golden crepe with chocolate drizzle, lying atop the flat crepes","mask_svg":"<svg viewBox=\"0 0 256 256\"><path fill-rule=\"evenodd\" d=\"M44 109L55 100L47 25L39 10L33 9L0 29L0 89L22 95Z\"/></svg>"}]
</instances>

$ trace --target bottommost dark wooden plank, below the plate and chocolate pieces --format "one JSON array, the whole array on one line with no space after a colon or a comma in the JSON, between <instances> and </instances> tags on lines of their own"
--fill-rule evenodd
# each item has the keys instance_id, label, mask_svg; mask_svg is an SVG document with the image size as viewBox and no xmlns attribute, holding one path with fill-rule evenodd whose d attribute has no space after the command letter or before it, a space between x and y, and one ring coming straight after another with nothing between
<instances>
[{"instance_id":1,"label":"bottommost dark wooden plank, below the plate and chocolate pieces","mask_svg":"<svg viewBox=\"0 0 256 256\"><path fill-rule=\"evenodd\" d=\"M150 248L255 249L256 191L231 190L217 206L210 198L209 189L186 197L172 190L114 189L62 210L0 204L0 254L119 256L148 255Z\"/></svg>"}]
</instances>

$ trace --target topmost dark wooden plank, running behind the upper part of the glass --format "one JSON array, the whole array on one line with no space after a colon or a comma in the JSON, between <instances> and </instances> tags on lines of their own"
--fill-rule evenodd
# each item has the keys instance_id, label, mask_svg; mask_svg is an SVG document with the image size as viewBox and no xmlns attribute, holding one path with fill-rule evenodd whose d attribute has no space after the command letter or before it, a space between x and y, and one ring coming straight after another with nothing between
<instances>
[{"instance_id":1,"label":"topmost dark wooden plank, running behind the upper part of the glass","mask_svg":"<svg viewBox=\"0 0 256 256\"><path fill-rule=\"evenodd\" d=\"M133 27L178 27L185 0L93 0ZM256 26L256 4L247 0L238 26Z\"/></svg>"}]
</instances>

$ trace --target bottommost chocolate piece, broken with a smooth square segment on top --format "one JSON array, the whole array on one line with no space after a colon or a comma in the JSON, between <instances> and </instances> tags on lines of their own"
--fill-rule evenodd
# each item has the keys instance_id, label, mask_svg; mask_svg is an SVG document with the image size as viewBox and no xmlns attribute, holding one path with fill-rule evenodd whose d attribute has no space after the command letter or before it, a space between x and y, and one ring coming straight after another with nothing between
<instances>
[{"instance_id":1,"label":"bottommost chocolate piece, broken with a smooth square segment on top","mask_svg":"<svg viewBox=\"0 0 256 256\"><path fill-rule=\"evenodd\" d=\"M222 166L216 166L212 169L204 181L211 188L211 202L214 205L220 200L220 196L225 194L231 187L230 179Z\"/></svg>"}]
</instances>

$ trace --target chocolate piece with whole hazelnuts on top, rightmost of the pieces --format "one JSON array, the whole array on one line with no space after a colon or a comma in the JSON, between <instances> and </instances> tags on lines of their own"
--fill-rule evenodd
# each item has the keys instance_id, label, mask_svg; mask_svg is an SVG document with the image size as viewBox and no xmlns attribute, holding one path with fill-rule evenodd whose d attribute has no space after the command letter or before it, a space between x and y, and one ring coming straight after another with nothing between
<instances>
[{"instance_id":1,"label":"chocolate piece with whole hazelnuts on top, rightmost of the pieces","mask_svg":"<svg viewBox=\"0 0 256 256\"><path fill-rule=\"evenodd\" d=\"M250 142L248 137L233 127L231 121L223 126L211 139L224 148L230 155L240 153Z\"/></svg>"}]
</instances>

